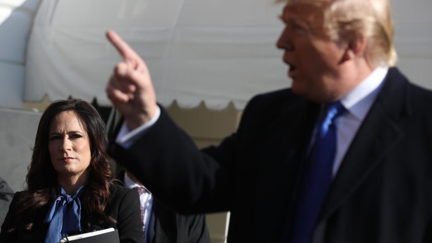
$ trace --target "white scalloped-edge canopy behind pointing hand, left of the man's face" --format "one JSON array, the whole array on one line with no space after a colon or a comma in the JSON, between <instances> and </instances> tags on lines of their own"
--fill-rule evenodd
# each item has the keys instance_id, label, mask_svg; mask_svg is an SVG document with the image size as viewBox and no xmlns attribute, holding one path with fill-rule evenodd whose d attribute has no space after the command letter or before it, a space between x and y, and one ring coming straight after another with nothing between
<instances>
[{"instance_id":1,"label":"white scalloped-edge canopy behind pointing hand, left of the man's face","mask_svg":"<svg viewBox=\"0 0 432 243\"><path fill-rule=\"evenodd\" d=\"M108 104L120 60L114 29L149 66L158 102L242 108L253 94L286 87L275 39L283 5L270 0L43 0L30 35L24 100L68 96Z\"/></svg>"}]
</instances>

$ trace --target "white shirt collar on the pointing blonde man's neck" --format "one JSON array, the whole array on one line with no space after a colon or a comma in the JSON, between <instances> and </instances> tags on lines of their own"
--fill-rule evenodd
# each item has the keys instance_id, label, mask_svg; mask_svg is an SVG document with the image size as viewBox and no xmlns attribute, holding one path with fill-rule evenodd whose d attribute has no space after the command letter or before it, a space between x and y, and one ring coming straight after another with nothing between
<instances>
[{"instance_id":1,"label":"white shirt collar on the pointing blonde man's neck","mask_svg":"<svg viewBox=\"0 0 432 243\"><path fill-rule=\"evenodd\" d=\"M342 98L341 103L350 114L360 120L366 116L378 96L388 69L387 66L379 66Z\"/></svg>"}]
</instances>

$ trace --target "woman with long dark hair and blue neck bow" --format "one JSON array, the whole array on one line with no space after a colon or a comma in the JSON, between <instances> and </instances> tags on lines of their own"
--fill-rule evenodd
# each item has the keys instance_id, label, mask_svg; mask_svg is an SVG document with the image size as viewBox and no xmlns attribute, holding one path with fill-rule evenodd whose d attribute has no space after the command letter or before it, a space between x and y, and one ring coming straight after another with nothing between
<instances>
[{"instance_id":1,"label":"woman with long dark hair and blue neck bow","mask_svg":"<svg viewBox=\"0 0 432 243\"><path fill-rule=\"evenodd\" d=\"M39 121L26 190L15 194L0 242L59 242L116 228L142 242L138 192L114 184L105 124L89 103L60 100Z\"/></svg>"}]
</instances>

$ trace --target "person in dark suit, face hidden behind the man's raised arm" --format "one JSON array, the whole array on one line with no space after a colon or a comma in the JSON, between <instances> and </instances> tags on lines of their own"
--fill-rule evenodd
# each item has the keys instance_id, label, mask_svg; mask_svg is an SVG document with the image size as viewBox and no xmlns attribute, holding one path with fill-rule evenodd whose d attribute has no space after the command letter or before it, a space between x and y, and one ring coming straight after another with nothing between
<instances>
[{"instance_id":1,"label":"person in dark suit, face hidden behind the man's raised arm","mask_svg":"<svg viewBox=\"0 0 432 243\"><path fill-rule=\"evenodd\" d=\"M118 179L125 187L140 194L141 219L145 242L210 243L205 215L181 215L167 208L128 171L121 171Z\"/></svg>"}]
</instances>

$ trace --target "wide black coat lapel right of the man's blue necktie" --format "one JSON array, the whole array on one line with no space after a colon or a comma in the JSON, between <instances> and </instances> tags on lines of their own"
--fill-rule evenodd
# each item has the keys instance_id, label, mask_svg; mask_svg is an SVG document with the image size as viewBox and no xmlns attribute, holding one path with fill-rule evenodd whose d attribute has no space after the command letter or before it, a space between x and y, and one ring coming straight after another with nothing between
<instances>
[{"instance_id":1,"label":"wide black coat lapel right of the man's blue necktie","mask_svg":"<svg viewBox=\"0 0 432 243\"><path fill-rule=\"evenodd\" d=\"M408 81L390 69L385 82L333 180L319 223L344 204L404 135L399 121L409 114Z\"/></svg>"}]
</instances>

